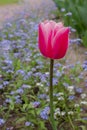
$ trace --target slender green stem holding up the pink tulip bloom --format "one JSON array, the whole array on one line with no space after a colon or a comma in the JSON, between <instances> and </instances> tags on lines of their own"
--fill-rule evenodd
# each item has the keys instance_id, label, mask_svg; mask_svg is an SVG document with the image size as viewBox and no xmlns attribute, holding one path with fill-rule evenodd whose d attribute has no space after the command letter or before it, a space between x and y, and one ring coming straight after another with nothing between
<instances>
[{"instance_id":1,"label":"slender green stem holding up the pink tulip bloom","mask_svg":"<svg viewBox=\"0 0 87 130\"><path fill-rule=\"evenodd\" d=\"M57 130L54 120L54 107L53 107L53 65L54 60L50 59L50 88L49 88L49 97L50 97L50 122L53 130Z\"/></svg>"}]
</instances>

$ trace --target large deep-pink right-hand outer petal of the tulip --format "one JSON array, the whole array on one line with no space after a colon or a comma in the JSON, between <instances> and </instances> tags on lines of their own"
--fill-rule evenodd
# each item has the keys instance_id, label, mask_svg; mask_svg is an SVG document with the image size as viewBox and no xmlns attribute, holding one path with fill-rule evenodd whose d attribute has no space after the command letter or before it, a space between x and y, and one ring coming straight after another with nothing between
<instances>
[{"instance_id":1,"label":"large deep-pink right-hand outer petal of the tulip","mask_svg":"<svg viewBox=\"0 0 87 130\"><path fill-rule=\"evenodd\" d=\"M55 35L53 46L53 59L63 58L68 48L68 34L69 28L61 28Z\"/></svg>"}]
</instances>

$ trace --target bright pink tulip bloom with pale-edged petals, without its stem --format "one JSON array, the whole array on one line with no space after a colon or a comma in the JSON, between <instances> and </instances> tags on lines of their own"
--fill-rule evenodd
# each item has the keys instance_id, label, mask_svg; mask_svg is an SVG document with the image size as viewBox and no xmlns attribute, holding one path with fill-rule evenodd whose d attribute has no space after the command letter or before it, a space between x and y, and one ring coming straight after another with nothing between
<instances>
[{"instance_id":1,"label":"bright pink tulip bloom with pale-edged petals, without its stem","mask_svg":"<svg viewBox=\"0 0 87 130\"><path fill-rule=\"evenodd\" d=\"M63 58L68 49L69 28L61 22L45 21L39 24L39 49L51 59Z\"/></svg>"}]
</instances>

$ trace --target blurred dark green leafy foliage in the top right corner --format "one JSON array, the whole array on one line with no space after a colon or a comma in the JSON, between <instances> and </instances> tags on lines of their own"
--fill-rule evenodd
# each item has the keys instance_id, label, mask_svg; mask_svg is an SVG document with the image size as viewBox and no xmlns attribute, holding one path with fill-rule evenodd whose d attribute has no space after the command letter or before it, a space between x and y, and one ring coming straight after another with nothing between
<instances>
[{"instance_id":1,"label":"blurred dark green leafy foliage in the top right corner","mask_svg":"<svg viewBox=\"0 0 87 130\"><path fill-rule=\"evenodd\" d=\"M87 47L87 0L54 0L66 25L74 27ZM64 12L61 9L65 9ZM67 15L71 13L71 16Z\"/></svg>"}]
</instances>

